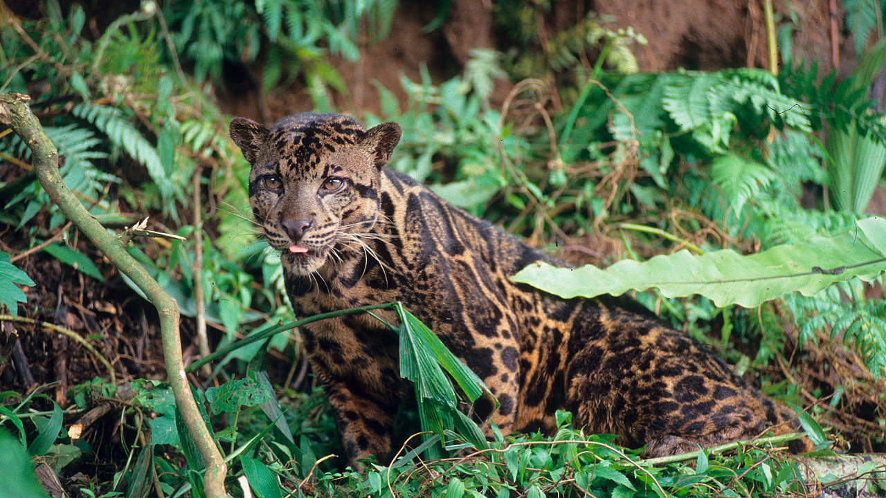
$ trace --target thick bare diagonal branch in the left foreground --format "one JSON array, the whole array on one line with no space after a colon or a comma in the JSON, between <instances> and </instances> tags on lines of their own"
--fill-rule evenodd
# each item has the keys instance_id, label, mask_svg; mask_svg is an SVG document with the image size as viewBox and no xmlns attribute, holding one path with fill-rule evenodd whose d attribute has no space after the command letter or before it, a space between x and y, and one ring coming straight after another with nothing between
<instances>
[{"instance_id":1,"label":"thick bare diagonal branch in the left foreground","mask_svg":"<svg viewBox=\"0 0 886 498\"><path fill-rule=\"evenodd\" d=\"M221 458L218 447L203 417L200 416L197 403L190 393L190 385L184 374L182 360L182 341L179 337L178 303L169 296L152 276L148 275L141 264L126 251L126 246L103 227L86 210L81 202L74 197L74 192L62 181L58 174L58 151L49 136L40 126L27 102L30 97L16 93L0 94L0 122L10 126L12 130L30 147L33 152L34 168L43 190L49 194L53 203L61 208L65 216L95 244L98 249L113 262L120 273L128 276L144 292L148 300L157 308L160 318L160 332L163 336L163 354L166 362L167 377L175 393L176 408L181 412L188 426L190 437L198 447L206 465L204 489L210 498L224 498L224 478L227 466Z\"/></svg>"}]
</instances>

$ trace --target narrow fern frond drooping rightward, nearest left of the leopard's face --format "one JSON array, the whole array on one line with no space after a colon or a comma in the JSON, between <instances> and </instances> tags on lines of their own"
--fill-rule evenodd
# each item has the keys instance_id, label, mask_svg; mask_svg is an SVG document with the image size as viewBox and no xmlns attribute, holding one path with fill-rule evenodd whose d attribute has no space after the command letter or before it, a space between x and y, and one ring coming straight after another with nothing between
<instances>
[{"instance_id":1,"label":"narrow fern frond drooping rightward, nearest left of the leopard's face","mask_svg":"<svg viewBox=\"0 0 886 498\"><path fill-rule=\"evenodd\" d=\"M157 149L124 119L120 109L83 103L74 105L71 113L92 123L112 144L120 147L132 159L146 167L164 198L170 198L175 193L174 186L169 181L170 172L160 162Z\"/></svg>"}]
</instances>

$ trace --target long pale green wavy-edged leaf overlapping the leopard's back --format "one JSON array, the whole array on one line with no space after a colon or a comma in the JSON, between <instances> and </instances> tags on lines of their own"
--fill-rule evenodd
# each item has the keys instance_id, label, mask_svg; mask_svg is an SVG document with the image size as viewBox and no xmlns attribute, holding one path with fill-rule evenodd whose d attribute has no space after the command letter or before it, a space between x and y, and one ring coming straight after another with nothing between
<instances>
[{"instance_id":1,"label":"long pale green wavy-edged leaf overlapping the leopard's back","mask_svg":"<svg viewBox=\"0 0 886 498\"><path fill-rule=\"evenodd\" d=\"M644 262L618 261L606 269L557 268L539 262L511 278L567 299L618 296L655 287L668 298L702 294L718 307L757 307L787 292L810 296L851 277L871 282L879 276L886 270L886 254L876 247L886 237L886 224L862 220L859 227L862 230L777 245L747 256L729 249L702 255L683 250Z\"/></svg>"}]
</instances>

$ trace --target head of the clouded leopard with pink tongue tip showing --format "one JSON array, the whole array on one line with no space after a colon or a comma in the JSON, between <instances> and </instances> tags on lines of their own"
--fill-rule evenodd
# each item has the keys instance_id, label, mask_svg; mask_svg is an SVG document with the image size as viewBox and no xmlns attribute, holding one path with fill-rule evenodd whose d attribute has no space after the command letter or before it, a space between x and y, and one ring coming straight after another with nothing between
<instances>
[{"instance_id":1,"label":"head of the clouded leopard with pink tongue tip showing","mask_svg":"<svg viewBox=\"0 0 886 498\"><path fill-rule=\"evenodd\" d=\"M366 129L342 114L300 113L270 129L245 118L230 136L246 160L249 201L286 268L310 275L378 222L381 171L400 127Z\"/></svg>"}]
</instances>

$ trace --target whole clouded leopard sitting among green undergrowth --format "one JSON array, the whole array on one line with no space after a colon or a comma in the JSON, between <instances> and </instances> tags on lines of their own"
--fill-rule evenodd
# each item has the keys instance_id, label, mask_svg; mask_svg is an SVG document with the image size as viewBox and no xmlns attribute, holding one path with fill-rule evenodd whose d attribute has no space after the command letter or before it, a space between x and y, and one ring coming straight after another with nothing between
<instances>
[{"instance_id":1,"label":"whole clouded leopard sitting among green undergrowth","mask_svg":"<svg viewBox=\"0 0 886 498\"><path fill-rule=\"evenodd\" d=\"M502 432L552 431L568 409L587 432L667 455L789 430L786 409L633 301L563 300L512 282L557 261L386 168L396 123L366 130L302 113L270 129L237 118L230 134L253 165L253 214L282 253L297 314L402 301L489 386ZM369 315L303 333L352 462L390 455L392 417L410 393L396 335Z\"/></svg>"}]
</instances>

